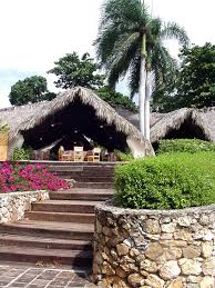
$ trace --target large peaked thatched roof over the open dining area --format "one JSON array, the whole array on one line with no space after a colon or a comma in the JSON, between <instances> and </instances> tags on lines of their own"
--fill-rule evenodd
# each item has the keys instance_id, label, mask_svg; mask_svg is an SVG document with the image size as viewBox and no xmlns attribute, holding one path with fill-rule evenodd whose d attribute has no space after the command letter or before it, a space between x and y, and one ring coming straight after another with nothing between
<instances>
[{"instance_id":1,"label":"large peaked thatched roof over the open dining area","mask_svg":"<svg viewBox=\"0 0 215 288\"><path fill-rule=\"evenodd\" d=\"M61 92L51 101L0 109L0 120L10 126L10 139L13 139L21 131L41 125L48 117L66 108L78 98L82 103L93 107L99 119L104 120L108 125L114 125L116 131L141 139L139 129L93 91L81 87Z\"/></svg>"}]
</instances>

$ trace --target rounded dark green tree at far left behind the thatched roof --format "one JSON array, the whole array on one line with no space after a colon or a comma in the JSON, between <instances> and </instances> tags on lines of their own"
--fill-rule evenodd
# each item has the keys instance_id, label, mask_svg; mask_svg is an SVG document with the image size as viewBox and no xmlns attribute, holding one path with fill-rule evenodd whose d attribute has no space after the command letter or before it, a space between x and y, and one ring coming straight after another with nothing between
<instances>
[{"instance_id":1,"label":"rounded dark green tree at far left behind the thatched roof","mask_svg":"<svg viewBox=\"0 0 215 288\"><path fill-rule=\"evenodd\" d=\"M11 87L9 95L9 100L14 106L34 103L53 98L55 98L55 93L48 91L47 79L42 76L32 76L24 80L19 80Z\"/></svg>"}]
</instances>

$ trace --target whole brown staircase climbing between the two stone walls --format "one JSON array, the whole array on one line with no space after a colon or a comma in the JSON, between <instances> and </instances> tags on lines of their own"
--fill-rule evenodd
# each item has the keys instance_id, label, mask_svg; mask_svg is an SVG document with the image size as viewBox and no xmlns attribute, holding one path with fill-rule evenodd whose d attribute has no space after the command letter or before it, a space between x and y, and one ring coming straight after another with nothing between
<instances>
[{"instance_id":1,"label":"whole brown staircase climbing between the two stone walls","mask_svg":"<svg viewBox=\"0 0 215 288\"><path fill-rule=\"evenodd\" d=\"M94 206L112 197L114 165L52 162L50 169L74 187L32 203L23 220L0 225L0 261L90 267Z\"/></svg>"}]
</instances>

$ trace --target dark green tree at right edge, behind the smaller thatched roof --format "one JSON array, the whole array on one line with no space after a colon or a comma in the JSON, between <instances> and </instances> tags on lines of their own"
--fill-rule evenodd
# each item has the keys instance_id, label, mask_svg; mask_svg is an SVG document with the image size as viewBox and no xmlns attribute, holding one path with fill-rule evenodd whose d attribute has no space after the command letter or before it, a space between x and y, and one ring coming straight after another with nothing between
<instances>
[{"instance_id":1,"label":"dark green tree at right edge, behind the smaller thatched roof","mask_svg":"<svg viewBox=\"0 0 215 288\"><path fill-rule=\"evenodd\" d=\"M175 80L166 82L165 92L155 95L153 110L168 112L183 107L215 106L215 46L184 48L180 59Z\"/></svg>"}]
</instances>

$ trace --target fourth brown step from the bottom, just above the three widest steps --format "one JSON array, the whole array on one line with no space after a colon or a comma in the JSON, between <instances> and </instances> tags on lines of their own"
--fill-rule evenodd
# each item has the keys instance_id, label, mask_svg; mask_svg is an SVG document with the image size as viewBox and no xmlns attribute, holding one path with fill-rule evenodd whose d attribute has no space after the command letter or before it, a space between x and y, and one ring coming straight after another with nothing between
<instances>
[{"instance_id":1,"label":"fourth brown step from the bottom, just above the three widest steps","mask_svg":"<svg viewBox=\"0 0 215 288\"><path fill-rule=\"evenodd\" d=\"M59 222L94 224L94 213L70 213L70 212L49 212L29 211L25 212L28 220L45 220Z\"/></svg>"}]
</instances>

